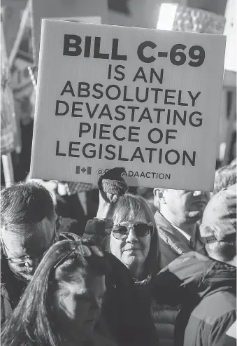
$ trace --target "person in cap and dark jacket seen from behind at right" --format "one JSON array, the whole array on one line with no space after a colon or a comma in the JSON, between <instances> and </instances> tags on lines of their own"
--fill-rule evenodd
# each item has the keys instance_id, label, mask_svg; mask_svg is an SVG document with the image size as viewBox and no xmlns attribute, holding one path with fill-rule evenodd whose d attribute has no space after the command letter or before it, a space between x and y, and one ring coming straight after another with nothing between
<instances>
[{"instance_id":1,"label":"person in cap and dark jacket seen from behind at right","mask_svg":"<svg viewBox=\"0 0 237 346\"><path fill-rule=\"evenodd\" d=\"M175 346L236 345L236 184L213 196L200 227L203 256L191 251L156 277L155 296L182 303Z\"/></svg>"}]
</instances>

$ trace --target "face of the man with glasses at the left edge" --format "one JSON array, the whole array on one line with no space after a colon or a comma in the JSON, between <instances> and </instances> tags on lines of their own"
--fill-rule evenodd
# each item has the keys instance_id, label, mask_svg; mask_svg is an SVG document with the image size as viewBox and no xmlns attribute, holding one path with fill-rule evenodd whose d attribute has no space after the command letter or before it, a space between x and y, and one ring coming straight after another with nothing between
<instances>
[{"instance_id":1,"label":"face of the man with glasses at the left edge","mask_svg":"<svg viewBox=\"0 0 237 346\"><path fill-rule=\"evenodd\" d=\"M43 219L21 234L1 230L1 242L10 269L30 280L45 251L55 241L55 220Z\"/></svg>"}]
</instances>

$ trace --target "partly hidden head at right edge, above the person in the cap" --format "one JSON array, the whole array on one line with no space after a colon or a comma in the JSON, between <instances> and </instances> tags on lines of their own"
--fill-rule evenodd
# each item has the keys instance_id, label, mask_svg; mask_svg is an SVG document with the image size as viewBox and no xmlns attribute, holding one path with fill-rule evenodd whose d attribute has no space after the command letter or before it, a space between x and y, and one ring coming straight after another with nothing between
<instances>
[{"instance_id":1,"label":"partly hidden head at right edge, above the person in the cap","mask_svg":"<svg viewBox=\"0 0 237 346\"><path fill-rule=\"evenodd\" d=\"M236 184L236 166L224 166L217 169L215 172L215 182L213 195L222 190L222 188L228 188L228 186Z\"/></svg>"}]
</instances>

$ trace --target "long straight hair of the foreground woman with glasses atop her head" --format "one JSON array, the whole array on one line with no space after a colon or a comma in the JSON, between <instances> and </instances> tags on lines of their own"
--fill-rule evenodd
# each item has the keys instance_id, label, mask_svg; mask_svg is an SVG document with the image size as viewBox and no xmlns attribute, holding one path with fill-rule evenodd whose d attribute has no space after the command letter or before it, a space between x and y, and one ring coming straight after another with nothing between
<instances>
[{"instance_id":1,"label":"long straight hair of the foreground woman with glasses atop her head","mask_svg":"<svg viewBox=\"0 0 237 346\"><path fill-rule=\"evenodd\" d=\"M54 244L38 265L31 282L24 291L13 314L6 320L1 332L3 346L59 346L61 338L54 321L53 295L60 282L73 282L75 271L83 268L95 275L105 275L108 263L93 251L83 257L78 245L80 241L63 240ZM84 243L85 244L85 243ZM54 270L66 254L75 251Z\"/></svg>"}]
</instances>

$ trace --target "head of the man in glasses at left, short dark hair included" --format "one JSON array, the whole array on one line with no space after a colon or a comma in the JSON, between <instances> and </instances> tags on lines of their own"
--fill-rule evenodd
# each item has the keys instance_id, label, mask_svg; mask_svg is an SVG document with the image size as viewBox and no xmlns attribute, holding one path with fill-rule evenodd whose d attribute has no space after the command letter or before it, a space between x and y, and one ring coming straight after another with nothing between
<instances>
[{"instance_id":1,"label":"head of the man in glasses at left, short dark hair included","mask_svg":"<svg viewBox=\"0 0 237 346\"><path fill-rule=\"evenodd\" d=\"M1 248L10 269L31 279L45 251L58 240L61 218L41 184L14 184L1 190Z\"/></svg>"}]
</instances>

